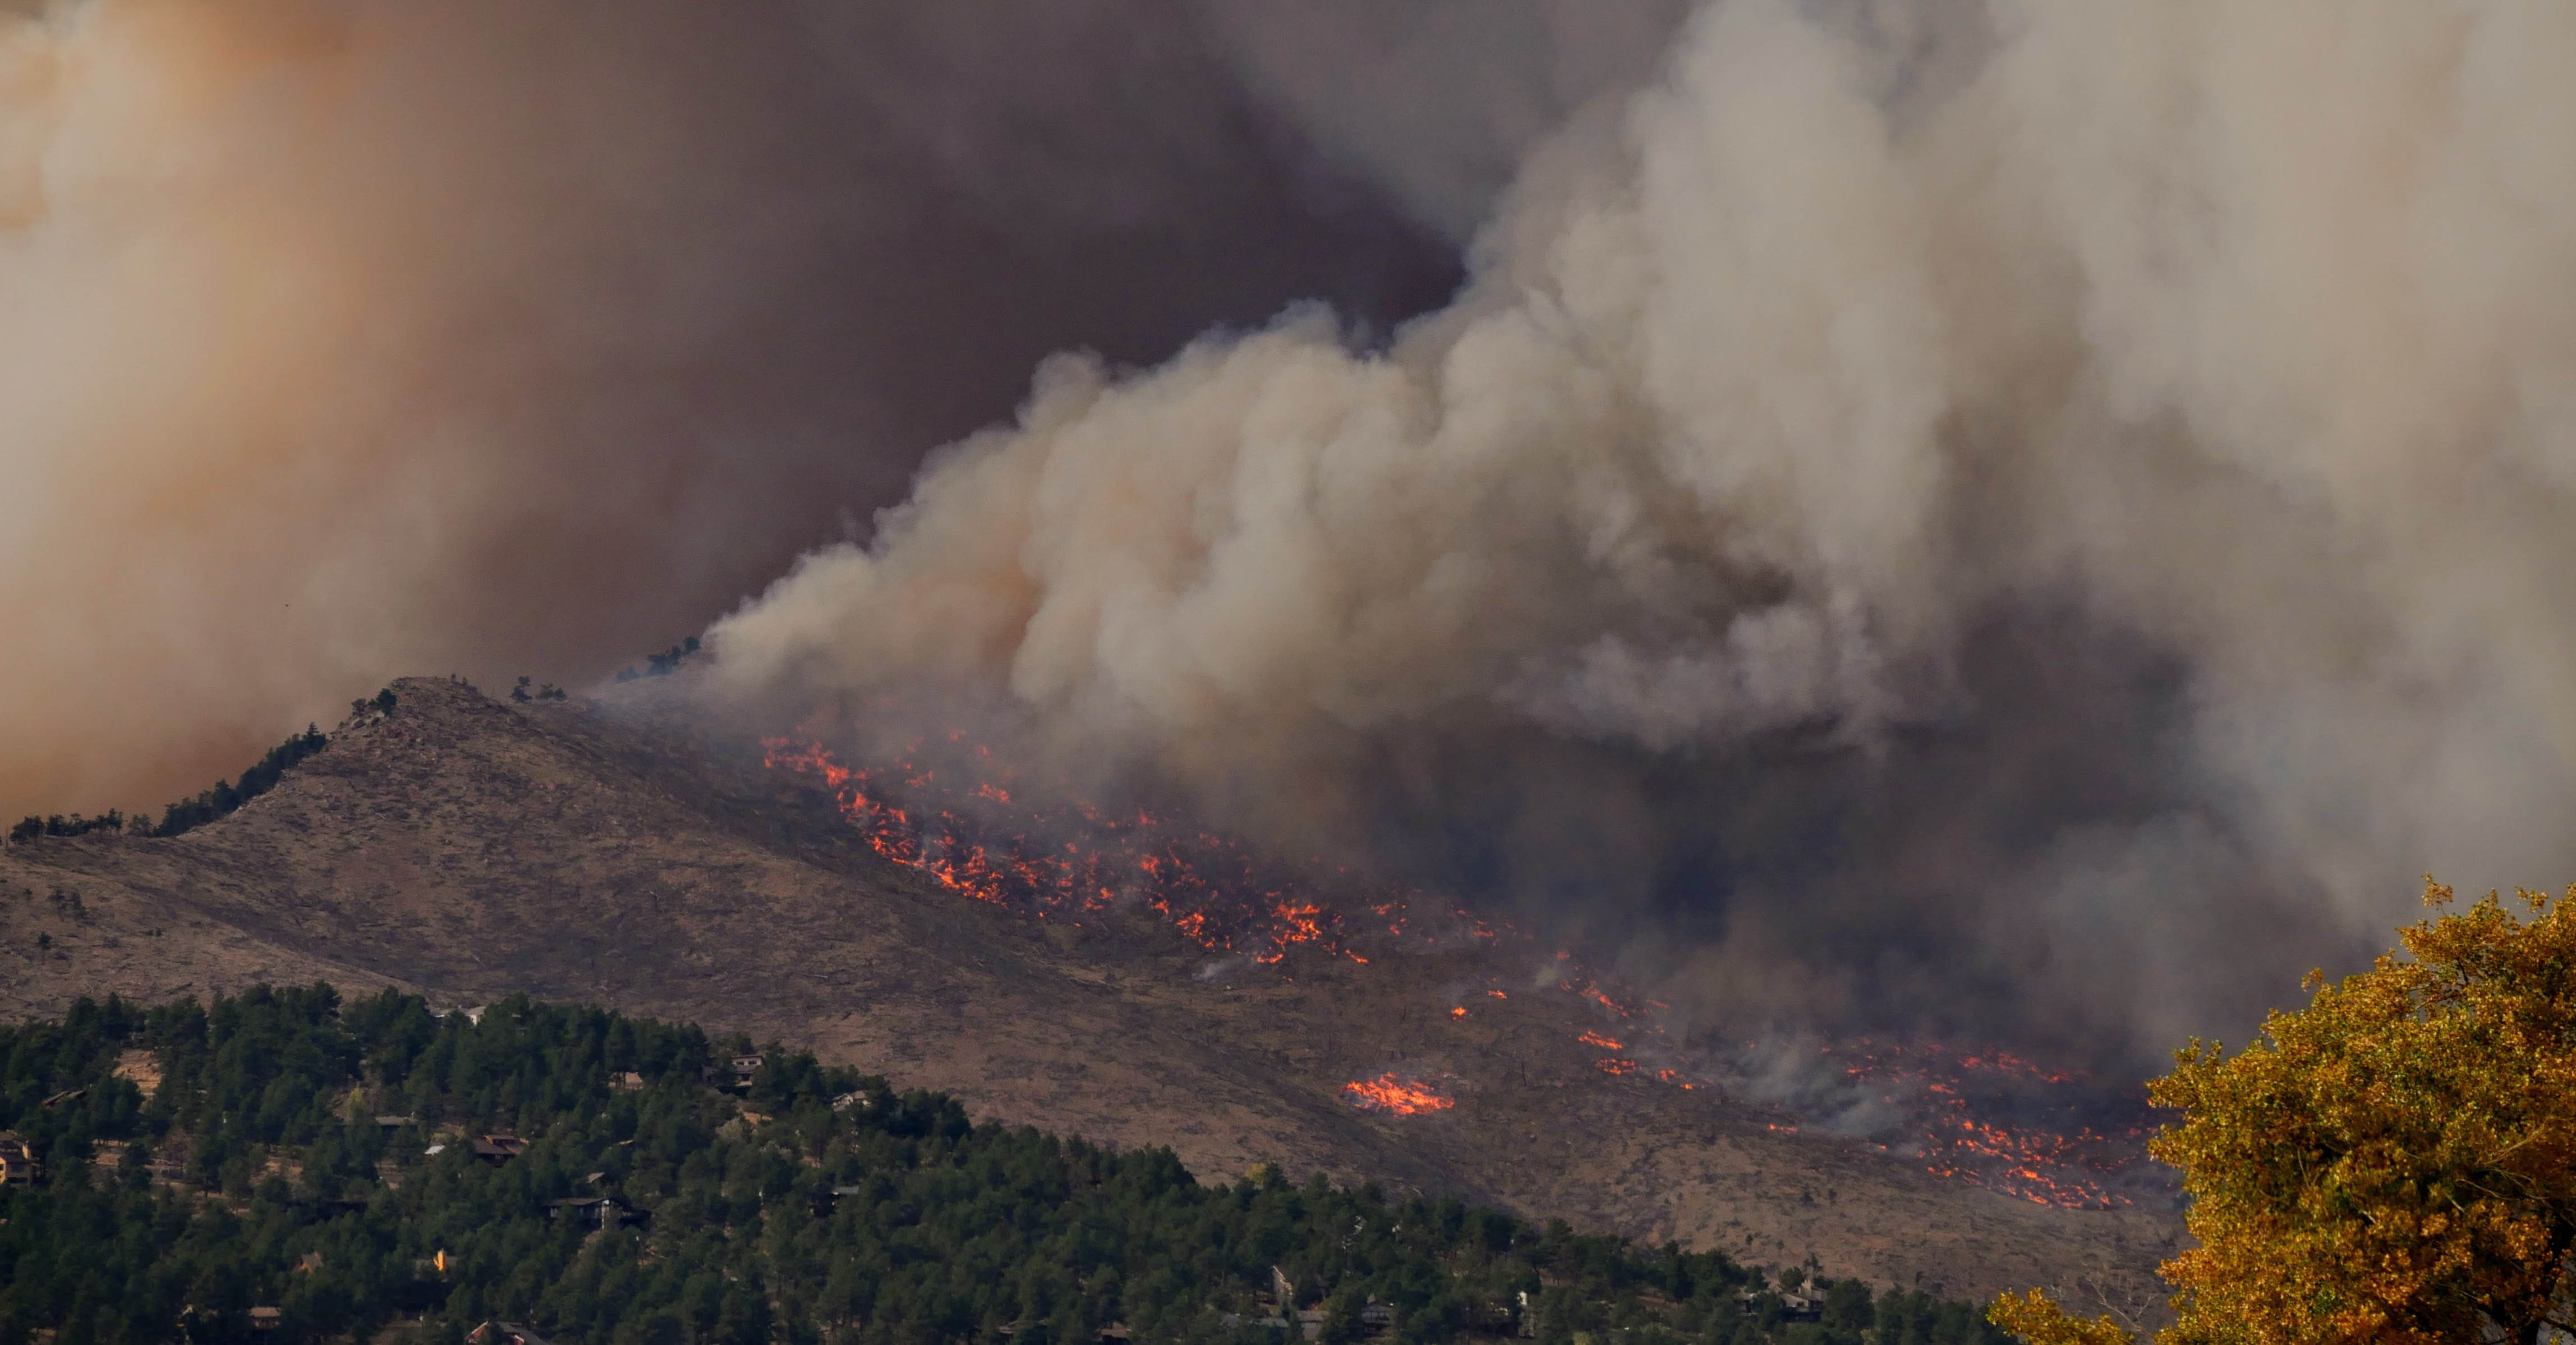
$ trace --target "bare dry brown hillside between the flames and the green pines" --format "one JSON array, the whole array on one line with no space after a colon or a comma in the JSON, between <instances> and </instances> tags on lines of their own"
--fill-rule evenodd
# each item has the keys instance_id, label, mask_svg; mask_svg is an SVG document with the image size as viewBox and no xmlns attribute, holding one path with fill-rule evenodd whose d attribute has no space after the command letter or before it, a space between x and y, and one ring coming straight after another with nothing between
<instances>
[{"instance_id":1,"label":"bare dry brown hillside between the flames and the green pines","mask_svg":"<svg viewBox=\"0 0 2576 1345\"><path fill-rule=\"evenodd\" d=\"M1373 1178L1942 1293L2053 1283L2138 1312L2177 1237L2166 1214L2045 1208L1610 1074L1587 1002L1492 995L1528 982L1492 948L1291 948L1211 974L1149 912L1069 928L963 902L878 855L829 791L649 696L404 680L232 817L0 850L0 910L10 1018L260 979L595 1000L979 1116L1170 1144L1208 1178ZM1352 1105L1378 1080L1445 1105Z\"/></svg>"}]
</instances>

